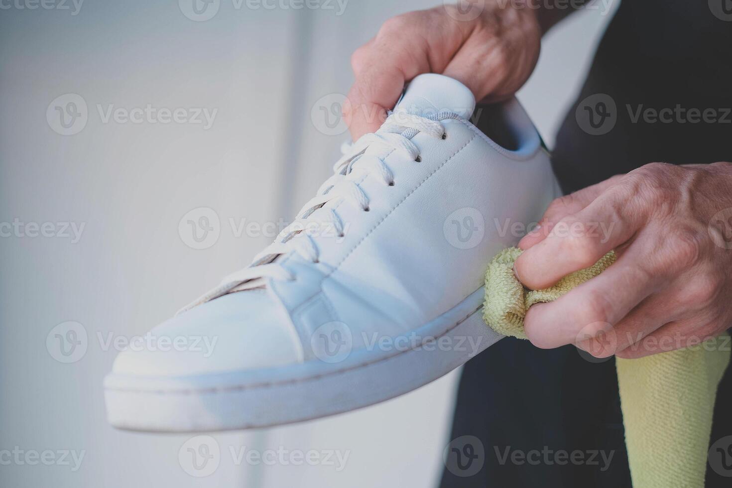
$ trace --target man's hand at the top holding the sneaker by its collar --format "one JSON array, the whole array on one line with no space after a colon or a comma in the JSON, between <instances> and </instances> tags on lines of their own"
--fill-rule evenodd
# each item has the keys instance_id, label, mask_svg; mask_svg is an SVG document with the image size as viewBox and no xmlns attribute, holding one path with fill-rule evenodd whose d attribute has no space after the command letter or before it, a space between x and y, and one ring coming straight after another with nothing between
<instances>
[{"instance_id":1,"label":"man's hand at the top holding the sneaker by its collar","mask_svg":"<svg viewBox=\"0 0 732 488\"><path fill-rule=\"evenodd\" d=\"M541 11L498 0L473 8L444 5L390 18L356 50L356 80L343 105L354 140L376 131L404 83L422 73L455 78L484 101L510 97L526 82L539 58Z\"/></svg>"}]
</instances>

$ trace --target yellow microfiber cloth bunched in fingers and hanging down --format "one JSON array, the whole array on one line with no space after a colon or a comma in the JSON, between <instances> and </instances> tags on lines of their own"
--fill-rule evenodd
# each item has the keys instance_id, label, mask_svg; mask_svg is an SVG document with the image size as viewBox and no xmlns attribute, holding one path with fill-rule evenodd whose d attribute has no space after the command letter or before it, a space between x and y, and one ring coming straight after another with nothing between
<instances>
[{"instance_id":1,"label":"yellow microfiber cloth bunched in fingers and hanging down","mask_svg":"<svg viewBox=\"0 0 732 488\"><path fill-rule=\"evenodd\" d=\"M490 261L483 307L491 329L520 339L526 339L523 318L531 305L558 299L616 260L610 251L594 266L567 275L551 288L527 290L513 273L520 254L512 247ZM641 359L616 359L634 488L704 486L714 397L729 361L728 348L706 343Z\"/></svg>"}]
</instances>

